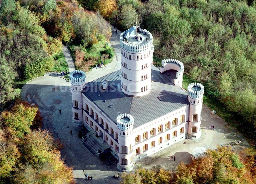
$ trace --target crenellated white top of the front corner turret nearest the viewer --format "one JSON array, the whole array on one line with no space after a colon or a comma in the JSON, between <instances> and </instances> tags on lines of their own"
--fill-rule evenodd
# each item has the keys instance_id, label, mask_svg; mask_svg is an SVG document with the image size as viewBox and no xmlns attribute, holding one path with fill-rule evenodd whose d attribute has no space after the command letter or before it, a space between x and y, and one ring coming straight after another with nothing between
<instances>
[{"instance_id":1,"label":"crenellated white top of the front corner turret nearest the viewer","mask_svg":"<svg viewBox=\"0 0 256 184\"><path fill-rule=\"evenodd\" d=\"M120 114L116 118L117 126L120 130L129 130L133 128L133 116L130 114Z\"/></svg>"}]
</instances>

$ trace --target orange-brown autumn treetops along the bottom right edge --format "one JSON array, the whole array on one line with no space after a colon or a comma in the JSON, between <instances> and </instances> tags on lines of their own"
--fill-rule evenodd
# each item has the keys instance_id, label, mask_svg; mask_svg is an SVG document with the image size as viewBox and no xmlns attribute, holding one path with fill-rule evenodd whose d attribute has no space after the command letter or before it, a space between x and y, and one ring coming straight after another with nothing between
<instances>
[{"instance_id":1,"label":"orange-brown autumn treetops along the bottom right edge","mask_svg":"<svg viewBox=\"0 0 256 184\"><path fill-rule=\"evenodd\" d=\"M256 182L255 163L254 156L246 156L244 152L239 156L230 147L218 147L177 168L163 169L158 165L124 173L121 184L253 184Z\"/></svg>"}]
</instances>

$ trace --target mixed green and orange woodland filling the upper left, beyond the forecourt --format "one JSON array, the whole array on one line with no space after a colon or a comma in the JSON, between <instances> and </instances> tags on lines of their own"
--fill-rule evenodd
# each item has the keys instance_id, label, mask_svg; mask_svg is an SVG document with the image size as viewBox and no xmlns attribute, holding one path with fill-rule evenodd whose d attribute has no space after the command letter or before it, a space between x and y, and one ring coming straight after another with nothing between
<instances>
[{"instance_id":1,"label":"mixed green and orange woodland filling the upper left, beyond the forecourt","mask_svg":"<svg viewBox=\"0 0 256 184\"><path fill-rule=\"evenodd\" d=\"M76 0L0 0L0 110L19 96L16 81L53 69L62 43L81 45L85 51L101 41L104 51L113 53L105 45L110 36L104 18ZM90 63L85 55L83 64Z\"/></svg>"}]
</instances>

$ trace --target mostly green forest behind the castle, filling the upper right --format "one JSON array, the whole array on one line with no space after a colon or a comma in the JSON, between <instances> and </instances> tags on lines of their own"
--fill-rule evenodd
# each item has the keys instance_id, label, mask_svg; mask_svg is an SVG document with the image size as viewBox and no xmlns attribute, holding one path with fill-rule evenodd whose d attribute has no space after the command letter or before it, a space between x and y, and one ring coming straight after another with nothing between
<instances>
[{"instance_id":1,"label":"mostly green forest behind the castle, filling the upper right","mask_svg":"<svg viewBox=\"0 0 256 184\"><path fill-rule=\"evenodd\" d=\"M256 127L256 1L79 2L121 30L134 26L137 18L153 34L154 55L182 61L208 96L241 115L243 125Z\"/></svg>"}]
</instances>

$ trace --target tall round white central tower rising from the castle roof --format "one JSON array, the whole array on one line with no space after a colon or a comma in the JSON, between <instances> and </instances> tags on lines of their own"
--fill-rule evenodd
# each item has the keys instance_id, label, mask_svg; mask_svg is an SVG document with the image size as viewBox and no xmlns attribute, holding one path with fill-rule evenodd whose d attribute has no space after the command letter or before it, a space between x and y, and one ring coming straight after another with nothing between
<instances>
[{"instance_id":1,"label":"tall round white central tower rising from the castle roof","mask_svg":"<svg viewBox=\"0 0 256 184\"><path fill-rule=\"evenodd\" d=\"M121 86L129 96L144 96L151 90L153 36L144 29L131 27L120 34Z\"/></svg>"}]
</instances>

